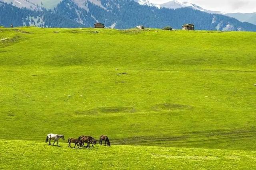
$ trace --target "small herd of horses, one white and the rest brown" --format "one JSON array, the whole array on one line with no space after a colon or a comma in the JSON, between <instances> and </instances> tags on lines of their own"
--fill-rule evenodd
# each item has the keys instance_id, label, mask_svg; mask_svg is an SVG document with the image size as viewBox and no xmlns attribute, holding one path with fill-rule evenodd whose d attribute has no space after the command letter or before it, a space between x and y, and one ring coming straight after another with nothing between
<instances>
[{"instance_id":1,"label":"small herd of horses, one white and the rest brown","mask_svg":"<svg viewBox=\"0 0 256 170\"><path fill-rule=\"evenodd\" d=\"M45 142L47 143L48 141L48 145L54 145L55 142L57 142L57 145L59 146L59 140L63 139L63 141L65 140L64 135L58 135L58 134L47 134L46 136L46 140ZM51 143L51 140L54 140L54 143ZM105 141L105 146L106 144L108 145L108 147L110 147L110 141L108 139L107 136L101 135L100 136L100 145L102 145L102 141ZM94 147L93 145L97 144L97 140L94 139L91 136L80 136L78 137L78 139L76 138L69 138L68 139L68 147L71 147L71 143L74 143L75 146L74 148L76 148L76 146L79 148L80 147L86 147L86 148L90 148L90 144L92 144L92 147ZM87 145L85 146L84 143L86 143Z\"/></svg>"}]
</instances>

